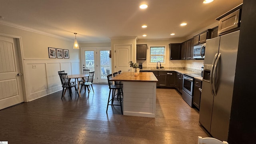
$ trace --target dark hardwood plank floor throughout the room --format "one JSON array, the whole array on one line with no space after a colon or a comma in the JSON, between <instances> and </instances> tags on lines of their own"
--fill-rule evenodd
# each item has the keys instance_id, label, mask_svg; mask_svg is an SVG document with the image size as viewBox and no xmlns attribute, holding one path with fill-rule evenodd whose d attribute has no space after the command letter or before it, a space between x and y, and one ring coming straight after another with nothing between
<instances>
[{"instance_id":1,"label":"dark hardwood plank floor throughout the room","mask_svg":"<svg viewBox=\"0 0 256 144\"><path fill-rule=\"evenodd\" d=\"M123 116L109 106L108 85L72 100L62 91L0 110L0 141L8 144L197 144L209 137L199 113L174 89L156 90L156 118Z\"/></svg>"}]
</instances>

